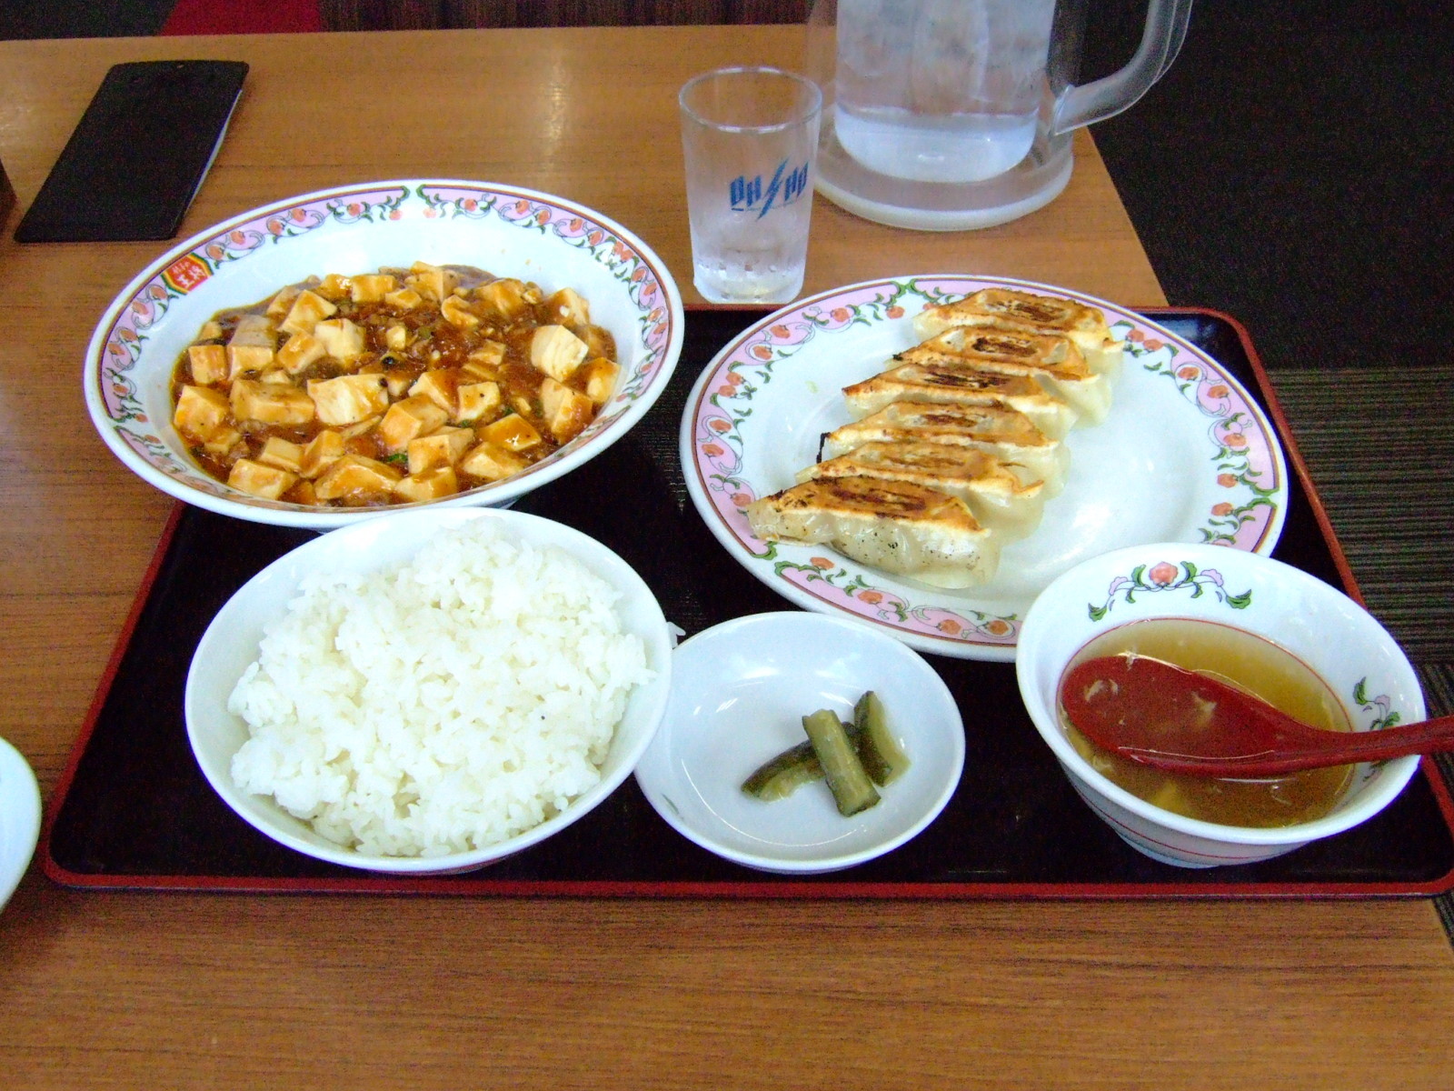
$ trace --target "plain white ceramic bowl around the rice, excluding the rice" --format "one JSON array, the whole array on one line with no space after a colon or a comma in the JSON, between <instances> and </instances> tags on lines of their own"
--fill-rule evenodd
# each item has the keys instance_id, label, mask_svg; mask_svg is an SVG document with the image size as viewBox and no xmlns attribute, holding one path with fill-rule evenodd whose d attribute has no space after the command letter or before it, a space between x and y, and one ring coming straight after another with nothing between
<instances>
[{"instance_id":1,"label":"plain white ceramic bowl around the rice, excluding the rice","mask_svg":"<svg viewBox=\"0 0 1454 1091\"><path fill-rule=\"evenodd\" d=\"M247 724L228 711L228 695L257 658L263 628L282 617L304 576L355 573L410 560L441 531L470 519L491 519L509 541L564 550L621 592L622 630L641 637L654 679L632 690L601 768L601 781L541 825L494 845L433 857L377 857L345 848L288 813L269 796L240 790L231 777L233 755L249 738ZM279 557L218 611L192 659L185 692L188 739L202 774L243 820L298 852L346 867L409 874L468 871L539 844L579 820L631 775L656 735L672 681L672 634L650 588L615 553L563 524L523 512L490 508L393 512L321 535Z\"/></svg>"}]
</instances>

